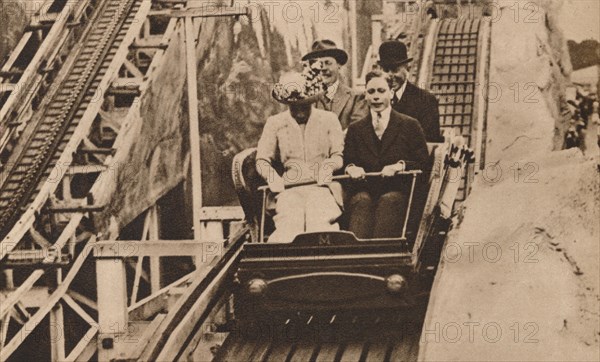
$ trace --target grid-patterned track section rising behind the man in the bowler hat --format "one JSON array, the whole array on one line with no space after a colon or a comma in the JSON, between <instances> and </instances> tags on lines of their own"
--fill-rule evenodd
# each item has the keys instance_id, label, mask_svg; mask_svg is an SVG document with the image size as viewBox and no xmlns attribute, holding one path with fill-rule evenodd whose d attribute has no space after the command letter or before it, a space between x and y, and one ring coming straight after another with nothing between
<instances>
[{"instance_id":1,"label":"grid-patterned track section rising behind the man in the bowler hat","mask_svg":"<svg viewBox=\"0 0 600 362\"><path fill-rule=\"evenodd\" d=\"M480 162L487 102L489 67L487 18L443 19L429 29L429 54L419 84L439 101L440 126L465 137ZM472 171L469 172L472 175ZM470 176L470 175L469 175ZM463 177L457 200L469 193L470 177Z\"/></svg>"}]
</instances>

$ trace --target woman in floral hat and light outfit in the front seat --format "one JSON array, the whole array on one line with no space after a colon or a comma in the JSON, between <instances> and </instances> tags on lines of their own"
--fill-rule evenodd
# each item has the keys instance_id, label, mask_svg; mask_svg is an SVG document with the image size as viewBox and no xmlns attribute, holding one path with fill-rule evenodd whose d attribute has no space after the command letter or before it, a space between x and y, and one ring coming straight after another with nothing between
<instances>
[{"instance_id":1,"label":"woman in floral hat and light outfit in the front seat","mask_svg":"<svg viewBox=\"0 0 600 362\"><path fill-rule=\"evenodd\" d=\"M342 189L331 182L342 168L344 134L334 113L316 109L313 103L322 86L298 73L282 76L273 97L289 110L267 119L258 142L256 168L276 193L276 230L269 242L289 243L302 232L339 230ZM274 162L283 164L279 175ZM286 183L317 184L285 189Z\"/></svg>"}]
</instances>

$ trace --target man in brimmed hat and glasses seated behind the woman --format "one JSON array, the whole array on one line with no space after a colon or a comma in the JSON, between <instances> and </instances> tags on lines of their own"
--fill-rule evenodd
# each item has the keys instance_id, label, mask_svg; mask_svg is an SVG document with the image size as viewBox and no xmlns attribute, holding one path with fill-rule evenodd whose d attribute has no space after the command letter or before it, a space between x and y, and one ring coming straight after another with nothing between
<instances>
[{"instance_id":1,"label":"man in brimmed hat and glasses seated behind the woman","mask_svg":"<svg viewBox=\"0 0 600 362\"><path fill-rule=\"evenodd\" d=\"M317 40L313 43L311 52L303 56L302 60L320 61L322 65L321 77L327 86L327 92L317 101L317 108L335 113L342 129L367 115L364 97L341 82L340 69L348 61L348 53L339 49L331 40Z\"/></svg>"}]
</instances>

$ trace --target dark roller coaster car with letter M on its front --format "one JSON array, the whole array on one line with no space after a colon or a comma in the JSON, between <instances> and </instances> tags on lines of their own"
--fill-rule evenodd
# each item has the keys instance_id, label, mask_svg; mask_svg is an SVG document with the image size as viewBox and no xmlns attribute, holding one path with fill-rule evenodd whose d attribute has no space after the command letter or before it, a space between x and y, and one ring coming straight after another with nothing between
<instances>
[{"instance_id":1,"label":"dark roller coaster car with letter M on its front","mask_svg":"<svg viewBox=\"0 0 600 362\"><path fill-rule=\"evenodd\" d=\"M266 197L259 191L264 190L264 181L255 169L256 151L238 154L233 161L234 184L255 242L244 245L235 275L236 316L285 320L291 312L335 311L341 318L344 312L356 315L361 310L422 304L419 300L428 295L427 281L432 280L441 250L434 244L443 243L440 236L449 226L440 223L440 193L451 150L458 146L447 141L428 144L428 149L432 168L425 174L427 197L417 198L411 208L420 218L415 233L371 240L357 239L348 231L303 233L291 244L264 243L273 226L264 209Z\"/></svg>"}]
</instances>

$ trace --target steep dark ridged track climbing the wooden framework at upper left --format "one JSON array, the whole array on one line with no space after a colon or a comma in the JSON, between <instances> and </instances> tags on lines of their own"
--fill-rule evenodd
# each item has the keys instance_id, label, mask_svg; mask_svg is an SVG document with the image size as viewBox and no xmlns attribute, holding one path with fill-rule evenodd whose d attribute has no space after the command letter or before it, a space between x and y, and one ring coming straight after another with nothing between
<instances>
[{"instance_id":1,"label":"steep dark ridged track climbing the wooden framework at upper left","mask_svg":"<svg viewBox=\"0 0 600 362\"><path fill-rule=\"evenodd\" d=\"M95 99L98 86L140 4L140 0L105 1L89 23L67 74L48 94L50 100L20 152L9 158L7 166L12 167L0 187L0 237L7 235L33 201L90 103L100 101Z\"/></svg>"}]
</instances>

